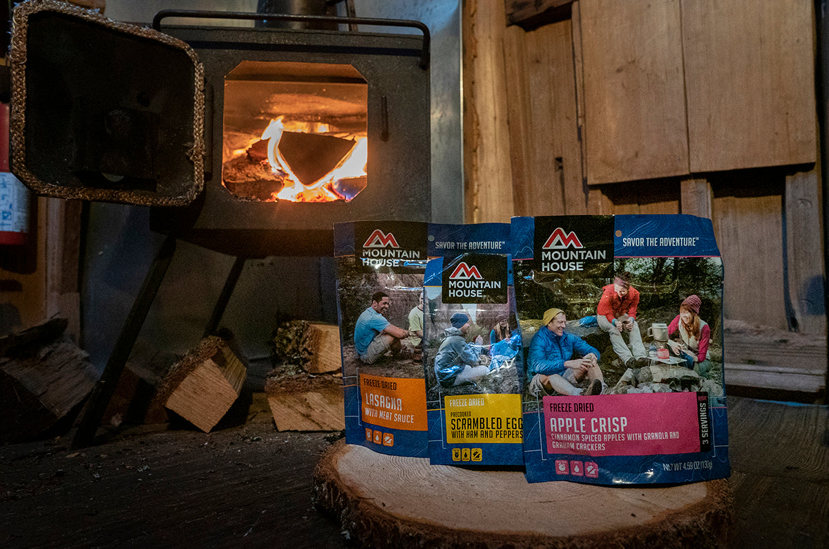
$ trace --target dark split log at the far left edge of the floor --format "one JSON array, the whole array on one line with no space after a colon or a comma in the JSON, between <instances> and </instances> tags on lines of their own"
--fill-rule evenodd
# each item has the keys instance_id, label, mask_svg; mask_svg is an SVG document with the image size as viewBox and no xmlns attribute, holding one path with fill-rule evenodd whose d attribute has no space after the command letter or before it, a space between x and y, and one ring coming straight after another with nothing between
<instances>
[{"instance_id":1,"label":"dark split log at the far left edge of the floor","mask_svg":"<svg viewBox=\"0 0 829 549\"><path fill-rule=\"evenodd\" d=\"M65 318L0 338L0 442L32 439L80 409L98 372Z\"/></svg>"}]
</instances>

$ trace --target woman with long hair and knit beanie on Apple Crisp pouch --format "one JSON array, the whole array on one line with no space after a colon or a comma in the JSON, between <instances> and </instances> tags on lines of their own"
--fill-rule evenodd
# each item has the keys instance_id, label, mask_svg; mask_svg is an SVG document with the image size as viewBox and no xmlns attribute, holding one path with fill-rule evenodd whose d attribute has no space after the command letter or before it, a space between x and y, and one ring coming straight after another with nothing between
<instances>
[{"instance_id":1,"label":"woman with long hair and knit beanie on Apple Crisp pouch","mask_svg":"<svg viewBox=\"0 0 829 549\"><path fill-rule=\"evenodd\" d=\"M711 361L708 346L711 341L711 328L700 318L700 296L693 294L682 300L679 314L668 324L668 335L678 334L678 340L668 341L668 347L677 357L686 360L686 367L702 377L708 377Z\"/></svg>"}]
</instances>

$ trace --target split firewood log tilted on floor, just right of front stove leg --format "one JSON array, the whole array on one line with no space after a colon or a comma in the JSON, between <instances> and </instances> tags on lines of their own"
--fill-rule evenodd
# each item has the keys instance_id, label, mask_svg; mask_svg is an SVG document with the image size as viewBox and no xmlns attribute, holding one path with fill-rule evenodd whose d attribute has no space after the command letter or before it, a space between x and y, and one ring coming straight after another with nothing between
<instances>
[{"instance_id":1,"label":"split firewood log tilted on floor, just right of front stove leg","mask_svg":"<svg viewBox=\"0 0 829 549\"><path fill-rule=\"evenodd\" d=\"M209 433L239 398L247 369L230 345L211 336L174 364L156 398Z\"/></svg>"}]
</instances>

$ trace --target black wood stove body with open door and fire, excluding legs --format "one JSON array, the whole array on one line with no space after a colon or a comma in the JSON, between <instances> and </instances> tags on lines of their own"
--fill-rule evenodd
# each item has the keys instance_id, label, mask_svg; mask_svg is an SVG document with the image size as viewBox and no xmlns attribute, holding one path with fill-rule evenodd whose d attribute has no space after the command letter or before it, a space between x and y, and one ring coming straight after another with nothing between
<instances>
[{"instance_id":1,"label":"black wood stove body with open door and fire, excluding legs","mask_svg":"<svg viewBox=\"0 0 829 549\"><path fill-rule=\"evenodd\" d=\"M154 231L243 257L329 255L337 221L430 219L419 22L167 10L148 29L36 0L14 25L12 172L41 195L152 206Z\"/></svg>"}]
</instances>

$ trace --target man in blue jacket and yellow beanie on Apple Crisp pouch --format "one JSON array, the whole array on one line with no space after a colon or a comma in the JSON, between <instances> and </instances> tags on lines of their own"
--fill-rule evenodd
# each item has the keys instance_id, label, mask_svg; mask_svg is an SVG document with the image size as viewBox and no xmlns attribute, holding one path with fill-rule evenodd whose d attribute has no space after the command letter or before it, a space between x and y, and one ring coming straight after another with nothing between
<instances>
[{"instance_id":1,"label":"man in blue jacket and yellow beanie on Apple Crisp pouch","mask_svg":"<svg viewBox=\"0 0 829 549\"><path fill-rule=\"evenodd\" d=\"M605 385L599 351L584 339L565 332L567 317L561 309L547 309L541 322L530 341L526 368L531 395L600 395ZM588 386L579 389L577 385L585 377Z\"/></svg>"}]
</instances>

